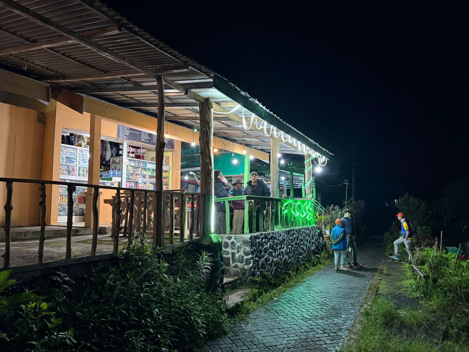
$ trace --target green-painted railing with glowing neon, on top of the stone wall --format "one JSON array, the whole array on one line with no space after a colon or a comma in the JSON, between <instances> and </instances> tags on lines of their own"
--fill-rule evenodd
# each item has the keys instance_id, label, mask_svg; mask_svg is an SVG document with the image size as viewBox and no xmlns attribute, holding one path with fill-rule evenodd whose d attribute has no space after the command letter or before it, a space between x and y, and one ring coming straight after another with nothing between
<instances>
[{"instance_id":1,"label":"green-painted railing with glowing neon, on top of the stone wall","mask_svg":"<svg viewBox=\"0 0 469 352\"><path fill-rule=\"evenodd\" d=\"M315 225L314 203L317 202L314 200L258 196L236 196L214 200L215 203L225 202L225 213L215 213L215 233L230 233L230 216L233 213L229 212L228 202L233 200L244 200L244 210L239 210L244 212L244 228L234 229L233 233L249 234L263 229L274 231Z\"/></svg>"}]
</instances>

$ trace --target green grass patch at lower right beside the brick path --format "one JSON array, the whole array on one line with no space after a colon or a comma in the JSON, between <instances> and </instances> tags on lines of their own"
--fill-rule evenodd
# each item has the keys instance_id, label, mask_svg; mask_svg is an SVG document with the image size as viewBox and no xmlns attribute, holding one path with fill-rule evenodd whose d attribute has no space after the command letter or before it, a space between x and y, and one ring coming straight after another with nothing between
<instances>
[{"instance_id":1,"label":"green grass patch at lower right beside the brick path","mask_svg":"<svg viewBox=\"0 0 469 352\"><path fill-rule=\"evenodd\" d=\"M412 280L413 281L413 280ZM416 297L410 285L408 273L393 285L383 278L378 291L399 292L408 297ZM441 321L444 298L424 300L420 309L398 309L384 297L375 297L371 308L364 312L365 321L359 336L353 343L342 346L341 352L469 352L469 346L461 335L465 319L452 318L446 324L446 337L441 346L439 335L443 328Z\"/></svg>"}]
</instances>

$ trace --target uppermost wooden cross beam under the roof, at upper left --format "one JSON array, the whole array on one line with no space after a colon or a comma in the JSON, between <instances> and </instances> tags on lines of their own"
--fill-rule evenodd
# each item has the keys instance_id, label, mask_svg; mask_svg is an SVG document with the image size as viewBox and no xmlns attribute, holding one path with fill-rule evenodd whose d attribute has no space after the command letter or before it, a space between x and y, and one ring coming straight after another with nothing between
<instances>
[{"instance_id":1,"label":"uppermost wooden cross beam under the roof, at upper left","mask_svg":"<svg viewBox=\"0 0 469 352\"><path fill-rule=\"evenodd\" d=\"M115 34L119 32L120 32L119 27L116 25L112 25L112 26L101 27L98 29L90 30L90 31L79 31L77 33L79 33L80 35L86 38L96 39L96 38L104 37L106 35L111 35L111 34ZM53 46L61 46L61 45L70 44L74 42L75 42L74 39L61 36L59 38L42 40L42 41L29 43L29 44L15 45L15 46L10 46L8 48L0 49L0 56L24 53L24 52L29 52L33 50L49 48Z\"/></svg>"}]
</instances>

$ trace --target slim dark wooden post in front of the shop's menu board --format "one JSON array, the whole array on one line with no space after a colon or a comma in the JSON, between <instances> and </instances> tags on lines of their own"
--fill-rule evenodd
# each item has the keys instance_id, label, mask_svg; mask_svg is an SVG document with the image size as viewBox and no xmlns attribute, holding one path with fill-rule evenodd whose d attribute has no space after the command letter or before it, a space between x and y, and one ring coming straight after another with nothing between
<instances>
[{"instance_id":1,"label":"slim dark wooden post in front of the shop's menu board","mask_svg":"<svg viewBox=\"0 0 469 352\"><path fill-rule=\"evenodd\" d=\"M158 247L164 246L165 225L164 225L164 211L165 211L165 195L163 193L163 159L165 157L165 88L163 85L163 77L156 77L156 86L158 92L158 125L156 128L156 145L155 145L155 178L156 178L156 216L154 217L154 226L157 228L156 236L153 236L153 245Z\"/></svg>"}]
</instances>

